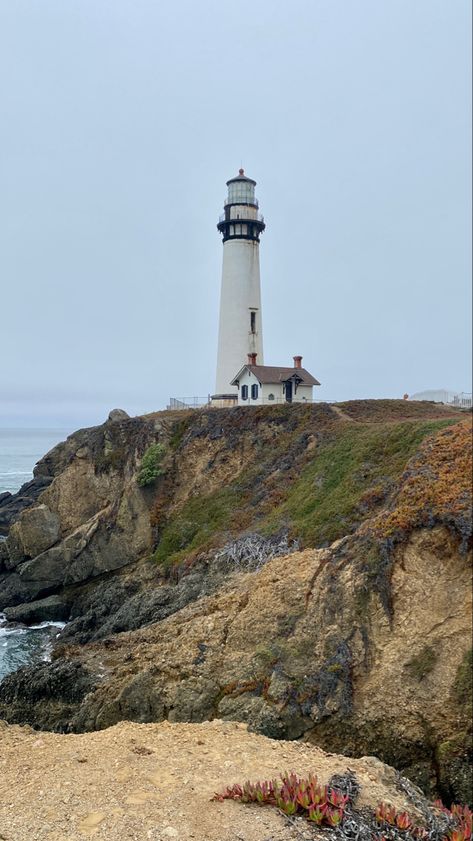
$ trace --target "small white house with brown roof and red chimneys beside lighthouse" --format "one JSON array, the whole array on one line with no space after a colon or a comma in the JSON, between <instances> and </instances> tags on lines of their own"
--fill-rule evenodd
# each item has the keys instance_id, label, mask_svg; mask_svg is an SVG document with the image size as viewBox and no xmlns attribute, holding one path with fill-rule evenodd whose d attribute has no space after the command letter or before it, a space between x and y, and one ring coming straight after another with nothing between
<instances>
[{"instance_id":1,"label":"small white house with brown roof and red chimneys beside lighthouse","mask_svg":"<svg viewBox=\"0 0 473 841\"><path fill-rule=\"evenodd\" d=\"M248 354L248 362L233 378L238 388L239 406L261 406L266 403L307 403L313 400L312 390L319 381L302 367L302 356L294 356L293 368L257 365L256 353Z\"/></svg>"}]
</instances>

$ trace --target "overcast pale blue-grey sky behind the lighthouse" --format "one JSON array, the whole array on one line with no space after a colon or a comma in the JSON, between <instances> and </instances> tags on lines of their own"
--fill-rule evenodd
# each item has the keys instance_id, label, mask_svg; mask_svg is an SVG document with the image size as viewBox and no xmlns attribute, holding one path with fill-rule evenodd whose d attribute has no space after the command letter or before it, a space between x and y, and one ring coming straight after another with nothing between
<instances>
[{"instance_id":1,"label":"overcast pale blue-grey sky behind the lighthouse","mask_svg":"<svg viewBox=\"0 0 473 841\"><path fill-rule=\"evenodd\" d=\"M470 390L470 0L0 0L0 425L215 379L225 181L265 361Z\"/></svg>"}]
</instances>

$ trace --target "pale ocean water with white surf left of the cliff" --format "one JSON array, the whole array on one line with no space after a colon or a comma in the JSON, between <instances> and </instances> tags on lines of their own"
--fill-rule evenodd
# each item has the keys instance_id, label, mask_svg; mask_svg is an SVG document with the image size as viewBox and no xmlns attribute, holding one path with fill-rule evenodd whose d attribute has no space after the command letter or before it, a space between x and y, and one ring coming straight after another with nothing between
<instances>
[{"instance_id":1,"label":"pale ocean water with white surf left of the cliff","mask_svg":"<svg viewBox=\"0 0 473 841\"><path fill-rule=\"evenodd\" d=\"M41 456L72 432L71 429L0 429L0 493L16 493L33 478ZM0 609L1 609L0 592ZM29 628L5 621L0 613L0 681L27 663L49 659L54 637L64 623Z\"/></svg>"}]
</instances>

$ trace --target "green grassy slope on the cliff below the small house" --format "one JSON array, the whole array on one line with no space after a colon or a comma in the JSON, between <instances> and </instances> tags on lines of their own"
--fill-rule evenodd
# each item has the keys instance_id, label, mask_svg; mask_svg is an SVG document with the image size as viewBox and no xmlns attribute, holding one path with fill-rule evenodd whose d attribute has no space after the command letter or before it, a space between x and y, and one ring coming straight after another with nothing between
<instances>
[{"instance_id":1,"label":"green grassy slope on the cliff below the small house","mask_svg":"<svg viewBox=\"0 0 473 841\"><path fill-rule=\"evenodd\" d=\"M286 413L291 422L279 419L269 445L261 447L256 438L249 468L208 496L190 498L164 524L155 559L166 566L191 560L245 531L286 528L303 546L327 545L389 508L421 442L464 421L439 407L402 401L359 401L342 409L350 420ZM268 413L252 411L257 424L267 421ZM247 422L250 415L241 417ZM186 446L182 430L179 446Z\"/></svg>"}]
</instances>

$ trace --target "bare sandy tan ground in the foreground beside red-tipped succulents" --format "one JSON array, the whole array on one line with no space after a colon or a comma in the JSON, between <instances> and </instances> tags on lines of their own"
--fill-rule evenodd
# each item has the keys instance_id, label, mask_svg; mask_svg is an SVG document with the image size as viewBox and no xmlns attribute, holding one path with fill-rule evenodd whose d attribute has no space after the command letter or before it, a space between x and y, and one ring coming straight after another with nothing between
<instances>
[{"instance_id":1,"label":"bare sandy tan ground in the foreground beside red-tipped succulents","mask_svg":"<svg viewBox=\"0 0 473 841\"><path fill-rule=\"evenodd\" d=\"M346 759L308 744L248 733L246 725L131 724L83 735L0 722L1 841L289 841L312 838L275 810L211 801L233 782L352 769L359 802L408 804L394 772L373 757ZM410 806L412 812L412 806Z\"/></svg>"}]
</instances>

